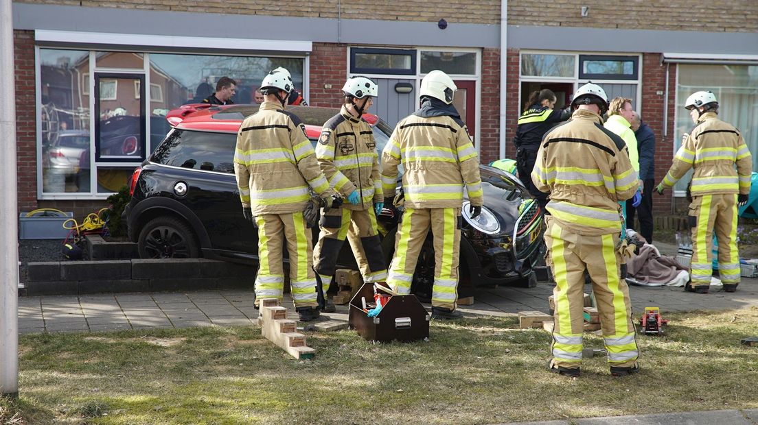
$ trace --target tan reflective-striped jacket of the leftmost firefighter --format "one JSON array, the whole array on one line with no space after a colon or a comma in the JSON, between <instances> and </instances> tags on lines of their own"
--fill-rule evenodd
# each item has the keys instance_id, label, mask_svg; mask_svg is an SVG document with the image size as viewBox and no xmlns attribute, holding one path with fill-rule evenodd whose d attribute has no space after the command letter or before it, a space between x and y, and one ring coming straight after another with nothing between
<instances>
[{"instance_id":1,"label":"tan reflective-striped jacket of the leftmost firefighter","mask_svg":"<svg viewBox=\"0 0 758 425\"><path fill-rule=\"evenodd\" d=\"M305 209L308 187L321 197L334 194L318 168L305 126L280 104L265 101L237 132L234 175L243 206L253 216Z\"/></svg>"}]
</instances>

